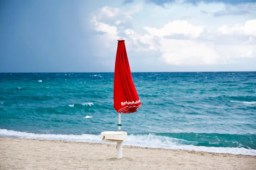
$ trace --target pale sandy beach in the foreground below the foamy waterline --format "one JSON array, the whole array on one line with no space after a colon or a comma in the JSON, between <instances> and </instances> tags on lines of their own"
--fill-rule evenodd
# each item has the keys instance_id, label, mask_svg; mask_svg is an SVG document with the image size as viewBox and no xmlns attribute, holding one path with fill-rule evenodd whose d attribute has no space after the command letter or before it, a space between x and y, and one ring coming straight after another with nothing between
<instances>
[{"instance_id":1,"label":"pale sandy beach in the foreground below the foamy waterline","mask_svg":"<svg viewBox=\"0 0 256 170\"><path fill-rule=\"evenodd\" d=\"M0 138L0 170L256 170L256 156Z\"/></svg>"}]
</instances>

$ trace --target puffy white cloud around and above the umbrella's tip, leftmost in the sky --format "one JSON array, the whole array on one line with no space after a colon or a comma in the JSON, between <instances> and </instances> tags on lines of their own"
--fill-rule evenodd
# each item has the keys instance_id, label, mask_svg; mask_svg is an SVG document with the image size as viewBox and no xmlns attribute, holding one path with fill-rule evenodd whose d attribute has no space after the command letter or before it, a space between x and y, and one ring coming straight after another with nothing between
<instances>
[{"instance_id":1,"label":"puffy white cloud around and above the umbrella's tip, leftmost in the sky","mask_svg":"<svg viewBox=\"0 0 256 170\"><path fill-rule=\"evenodd\" d=\"M113 48L116 46L116 40L126 35L125 27L130 27L133 22L131 15L140 11L140 8L140 5L136 5L130 10L123 11L120 8L105 6L94 13L91 23L99 34L95 36L93 43L102 42L98 50L94 51L95 56L108 57L109 53L116 51Z\"/></svg>"}]
</instances>

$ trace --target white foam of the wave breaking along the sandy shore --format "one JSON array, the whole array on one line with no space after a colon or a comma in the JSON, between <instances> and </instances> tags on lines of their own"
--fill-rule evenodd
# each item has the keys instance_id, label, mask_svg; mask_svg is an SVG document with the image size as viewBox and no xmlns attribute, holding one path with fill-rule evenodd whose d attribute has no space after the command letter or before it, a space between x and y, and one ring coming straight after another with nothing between
<instances>
[{"instance_id":1,"label":"white foam of the wave breaking along the sandy shore","mask_svg":"<svg viewBox=\"0 0 256 170\"><path fill-rule=\"evenodd\" d=\"M103 143L100 139L100 135L82 134L82 135L62 135L62 134L37 134L37 133L26 133L14 130L0 129L0 136L2 137L18 137L18 138L30 138L30 139L48 139L48 140L64 140L73 142L90 142L90 143ZM256 156L256 150L245 149L243 147L204 147L194 145L184 145L179 142L180 139L170 138L167 136L156 136L154 134L148 135L128 135L124 145L140 146L140 147L159 147L166 149L175 150L195 150L212 153L232 153L232 154L243 154L243 155L254 155ZM107 143L107 142L106 142ZM113 144L113 143L109 143Z\"/></svg>"}]
</instances>

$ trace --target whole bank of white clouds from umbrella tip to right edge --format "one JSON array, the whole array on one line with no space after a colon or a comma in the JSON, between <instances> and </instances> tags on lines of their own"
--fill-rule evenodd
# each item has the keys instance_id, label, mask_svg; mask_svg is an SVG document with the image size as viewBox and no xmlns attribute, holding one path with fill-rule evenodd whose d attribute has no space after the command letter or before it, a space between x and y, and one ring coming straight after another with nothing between
<instances>
[{"instance_id":1,"label":"whole bank of white clouds from umbrella tip to right edge","mask_svg":"<svg viewBox=\"0 0 256 170\"><path fill-rule=\"evenodd\" d=\"M166 21L166 17L163 17L166 21L163 23L160 16L173 16L172 13L175 13L180 18L184 13L179 14L177 11L184 6L175 5L169 11L148 4L144 4L143 8L141 4L135 7L129 10L105 7L105 10L99 10L96 16L108 13L108 17L96 17L94 21L94 26L98 26L95 30L103 30L105 33L97 38L104 39L107 44L103 45L102 51L113 53L116 50L113 48L116 40L123 37L126 40L126 49L136 56L140 53L140 59L148 65L239 65L244 59L256 57L256 20L243 20L243 24L234 25L233 23L237 23L236 18L221 20L220 16L217 19L213 17L214 11L208 16L205 15L208 14L206 11L201 14L198 9L211 9L211 5L201 3L200 6L189 7L186 11L186 15L192 14L194 18ZM220 8L236 11L233 6L227 7L223 4L215 5L213 9L219 11ZM136 13L138 14L134 15ZM151 16L149 20L144 19L147 16ZM122 25L123 21L128 24Z\"/></svg>"}]
</instances>

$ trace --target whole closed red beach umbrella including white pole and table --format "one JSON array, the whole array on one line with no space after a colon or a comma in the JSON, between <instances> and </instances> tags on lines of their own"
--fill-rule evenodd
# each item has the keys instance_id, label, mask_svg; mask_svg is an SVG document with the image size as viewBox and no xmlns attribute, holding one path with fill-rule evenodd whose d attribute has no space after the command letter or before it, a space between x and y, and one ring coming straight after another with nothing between
<instances>
[{"instance_id":1,"label":"whole closed red beach umbrella including white pole and table","mask_svg":"<svg viewBox=\"0 0 256 170\"><path fill-rule=\"evenodd\" d=\"M114 74L114 108L118 112L118 131L101 133L105 142L117 142L117 158L122 158L122 142L126 141L127 133L121 132L121 113L134 113L141 106L125 49L125 40L118 40Z\"/></svg>"}]
</instances>

